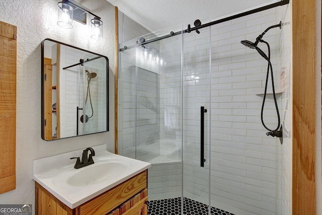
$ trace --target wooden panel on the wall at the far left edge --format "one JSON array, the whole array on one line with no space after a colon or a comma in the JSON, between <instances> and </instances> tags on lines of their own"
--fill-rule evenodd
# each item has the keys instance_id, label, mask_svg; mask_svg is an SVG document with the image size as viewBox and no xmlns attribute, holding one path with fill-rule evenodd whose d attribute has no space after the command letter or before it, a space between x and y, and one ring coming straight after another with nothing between
<instances>
[{"instance_id":1,"label":"wooden panel on the wall at the far left edge","mask_svg":"<svg viewBox=\"0 0 322 215\"><path fill-rule=\"evenodd\" d=\"M16 35L16 36L15 36ZM0 21L0 194L16 189L17 26Z\"/></svg>"}]
</instances>

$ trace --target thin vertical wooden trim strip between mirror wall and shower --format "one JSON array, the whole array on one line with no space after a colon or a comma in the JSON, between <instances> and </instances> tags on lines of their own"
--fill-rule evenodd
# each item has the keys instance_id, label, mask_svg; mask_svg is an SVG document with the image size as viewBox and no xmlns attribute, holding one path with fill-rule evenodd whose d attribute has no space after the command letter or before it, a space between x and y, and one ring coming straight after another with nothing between
<instances>
[{"instance_id":1,"label":"thin vertical wooden trim strip between mirror wall and shower","mask_svg":"<svg viewBox=\"0 0 322 215\"><path fill-rule=\"evenodd\" d=\"M115 7L115 80L114 80L114 109L115 109L115 114L114 114L114 122L115 122L115 127L114 127L114 136L115 136L115 154L118 154L118 73L119 73L119 9Z\"/></svg>"}]
</instances>

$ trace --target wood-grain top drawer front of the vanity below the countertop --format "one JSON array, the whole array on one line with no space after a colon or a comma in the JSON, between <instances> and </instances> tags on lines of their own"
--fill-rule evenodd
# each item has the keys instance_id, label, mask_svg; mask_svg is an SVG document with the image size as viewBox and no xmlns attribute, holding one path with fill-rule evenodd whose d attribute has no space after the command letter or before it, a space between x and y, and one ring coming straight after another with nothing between
<instances>
[{"instance_id":1,"label":"wood-grain top drawer front of the vanity below the countertop","mask_svg":"<svg viewBox=\"0 0 322 215\"><path fill-rule=\"evenodd\" d=\"M139 191L146 189L147 171L130 178L111 190L97 196L83 205L79 206L79 214L106 214L113 208L135 195Z\"/></svg>"}]
</instances>

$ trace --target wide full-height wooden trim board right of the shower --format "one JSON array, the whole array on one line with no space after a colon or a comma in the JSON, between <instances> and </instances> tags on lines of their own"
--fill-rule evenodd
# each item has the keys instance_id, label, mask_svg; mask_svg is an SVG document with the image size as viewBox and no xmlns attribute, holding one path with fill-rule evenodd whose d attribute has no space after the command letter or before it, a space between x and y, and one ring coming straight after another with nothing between
<instances>
[{"instance_id":1,"label":"wide full-height wooden trim board right of the shower","mask_svg":"<svg viewBox=\"0 0 322 215\"><path fill-rule=\"evenodd\" d=\"M292 214L315 214L315 2L292 1Z\"/></svg>"}]
</instances>

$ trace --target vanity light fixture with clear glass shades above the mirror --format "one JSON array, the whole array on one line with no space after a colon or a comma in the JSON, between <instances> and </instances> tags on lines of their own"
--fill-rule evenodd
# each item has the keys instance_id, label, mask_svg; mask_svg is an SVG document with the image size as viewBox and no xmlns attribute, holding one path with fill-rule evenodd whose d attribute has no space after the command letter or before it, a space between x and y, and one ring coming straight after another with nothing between
<instances>
[{"instance_id":1,"label":"vanity light fixture with clear glass shades above the mirror","mask_svg":"<svg viewBox=\"0 0 322 215\"><path fill-rule=\"evenodd\" d=\"M95 40L103 39L103 22L101 18L68 0L58 3L57 24L63 28L72 28L72 22L75 20L86 25L87 14L94 16L94 19L91 19L91 37Z\"/></svg>"}]
</instances>

